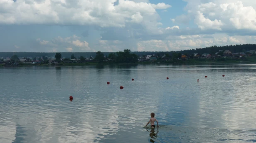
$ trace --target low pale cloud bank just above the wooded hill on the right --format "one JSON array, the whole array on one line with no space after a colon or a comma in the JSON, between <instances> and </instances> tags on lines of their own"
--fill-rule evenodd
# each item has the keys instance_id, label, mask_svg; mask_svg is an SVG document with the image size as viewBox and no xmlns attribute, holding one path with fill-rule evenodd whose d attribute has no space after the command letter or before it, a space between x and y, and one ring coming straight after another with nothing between
<instances>
[{"instance_id":1,"label":"low pale cloud bank just above the wooded hill on the right","mask_svg":"<svg viewBox=\"0 0 256 143\"><path fill-rule=\"evenodd\" d=\"M137 43L137 51L178 51L211 47L214 45L254 44L256 36L214 35L181 35L169 36L166 40L147 40Z\"/></svg>"}]
</instances>

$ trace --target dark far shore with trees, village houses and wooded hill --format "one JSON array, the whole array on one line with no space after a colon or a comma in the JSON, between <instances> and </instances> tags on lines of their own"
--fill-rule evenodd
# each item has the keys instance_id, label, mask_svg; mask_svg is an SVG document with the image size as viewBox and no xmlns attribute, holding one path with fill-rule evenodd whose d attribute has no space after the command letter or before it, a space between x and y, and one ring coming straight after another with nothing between
<instances>
[{"instance_id":1,"label":"dark far shore with trees, village houses and wooded hill","mask_svg":"<svg viewBox=\"0 0 256 143\"><path fill-rule=\"evenodd\" d=\"M256 63L256 45L230 45L222 47L207 47L200 49L188 49L178 52L131 52L125 49L119 52L95 52L90 56L71 53L55 53L54 56L48 57L46 54L36 57L21 57L22 52L17 52L11 58L0 58L0 64L3 66L17 65L59 65L59 66L81 66L97 64L129 64L129 63ZM233 51L231 51L233 50ZM2 54L3 52L0 52ZM26 54L28 54L27 52ZM88 52L87 52L88 53ZM23 53L24 54L24 53ZM38 53L37 53L38 54ZM42 53L41 53L42 54ZM49 54L49 53L48 53ZM63 54L65 57L63 57ZM95 56L91 56L95 55Z\"/></svg>"}]
</instances>

